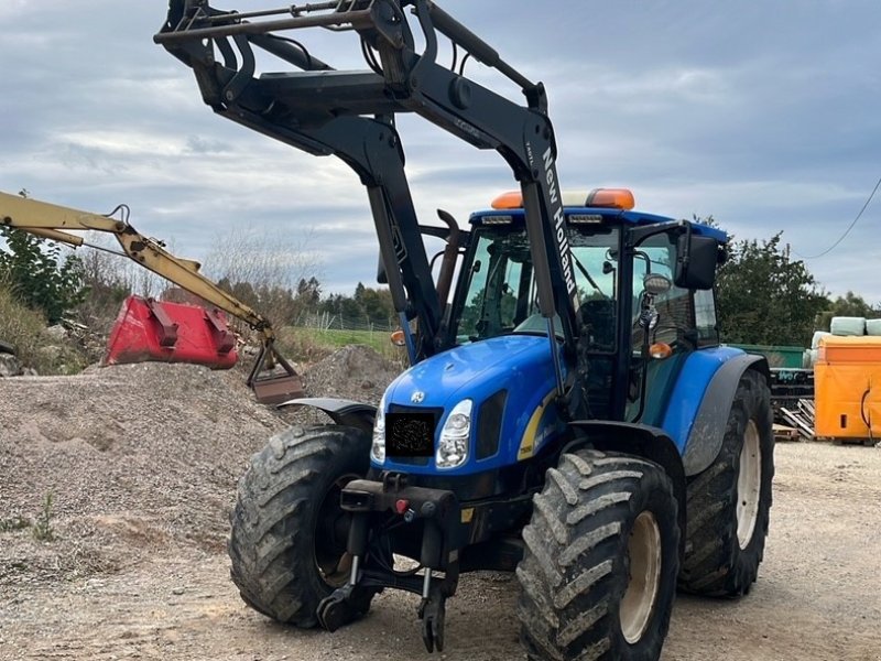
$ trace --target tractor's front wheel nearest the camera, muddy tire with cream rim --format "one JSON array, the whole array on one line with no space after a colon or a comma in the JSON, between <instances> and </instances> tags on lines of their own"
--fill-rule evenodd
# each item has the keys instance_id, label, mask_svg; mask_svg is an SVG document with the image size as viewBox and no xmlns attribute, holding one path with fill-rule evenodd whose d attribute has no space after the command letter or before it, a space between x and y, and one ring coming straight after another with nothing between
<instances>
[{"instance_id":1,"label":"tractor's front wheel nearest the camera, muddy tire with cream rim","mask_svg":"<svg viewBox=\"0 0 881 661\"><path fill-rule=\"evenodd\" d=\"M579 451L547 472L516 570L531 661L657 659L679 529L673 485L638 457Z\"/></svg>"}]
</instances>

